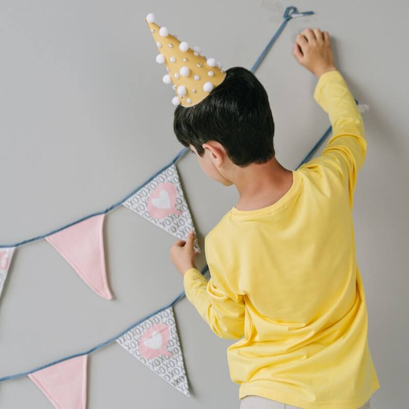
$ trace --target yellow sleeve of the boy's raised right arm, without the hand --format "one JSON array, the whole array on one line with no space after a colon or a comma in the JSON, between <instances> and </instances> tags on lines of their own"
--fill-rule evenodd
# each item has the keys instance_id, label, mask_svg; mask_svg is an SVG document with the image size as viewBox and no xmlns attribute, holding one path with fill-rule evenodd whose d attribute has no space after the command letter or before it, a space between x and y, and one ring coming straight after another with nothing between
<instances>
[{"instance_id":1,"label":"yellow sleeve of the boy's raised right arm, without the hand","mask_svg":"<svg viewBox=\"0 0 409 409\"><path fill-rule=\"evenodd\" d=\"M338 70L320 76L313 98L328 113L333 133L317 162L339 176L352 208L357 173L367 151L362 116Z\"/></svg>"}]
</instances>

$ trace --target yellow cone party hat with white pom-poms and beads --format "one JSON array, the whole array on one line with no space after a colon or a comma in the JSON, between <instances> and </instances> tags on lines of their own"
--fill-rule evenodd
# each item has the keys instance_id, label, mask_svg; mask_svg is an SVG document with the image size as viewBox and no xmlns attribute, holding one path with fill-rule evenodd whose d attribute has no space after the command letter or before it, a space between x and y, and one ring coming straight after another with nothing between
<instances>
[{"instance_id":1,"label":"yellow cone party hat with white pom-poms and beads","mask_svg":"<svg viewBox=\"0 0 409 409\"><path fill-rule=\"evenodd\" d=\"M219 85L226 77L220 62L206 58L200 47L189 47L186 41L179 41L169 33L167 27L155 24L155 16L149 13L145 21L156 42L158 54L156 62L165 64L167 74L163 76L165 84L172 84L176 97L173 105L194 106Z\"/></svg>"}]
</instances>

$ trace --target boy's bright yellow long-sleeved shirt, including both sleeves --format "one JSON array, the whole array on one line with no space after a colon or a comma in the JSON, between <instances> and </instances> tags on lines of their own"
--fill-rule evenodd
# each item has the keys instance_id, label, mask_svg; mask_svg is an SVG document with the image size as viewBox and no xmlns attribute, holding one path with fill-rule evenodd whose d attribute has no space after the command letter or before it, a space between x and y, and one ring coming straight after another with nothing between
<instances>
[{"instance_id":1,"label":"boy's bright yellow long-sleeved shirt, including both sleeves","mask_svg":"<svg viewBox=\"0 0 409 409\"><path fill-rule=\"evenodd\" d=\"M183 282L214 333L240 339L227 349L240 399L356 409L380 388L352 218L367 142L339 71L313 97L332 125L322 154L292 171L274 204L226 213L205 238L210 280L190 268Z\"/></svg>"}]
</instances>

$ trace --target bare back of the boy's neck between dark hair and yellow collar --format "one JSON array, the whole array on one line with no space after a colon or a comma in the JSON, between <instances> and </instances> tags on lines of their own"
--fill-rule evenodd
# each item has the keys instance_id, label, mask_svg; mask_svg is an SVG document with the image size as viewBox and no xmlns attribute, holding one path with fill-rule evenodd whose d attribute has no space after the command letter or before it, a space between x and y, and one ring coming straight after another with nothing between
<instances>
[{"instance_id":1,"label":"bare back of the boy's neck between dark hair and yellow collar","mask_svg":"<svg viewBox=\"0 0 409 409\"><path fill-rule=\"evenodd\" d=\"M292 186L292 171L284 168L275 157L264 164L237 168L235 186L240 198L239 210L256 210L274 204Z\"/></svg>"}]
</instances>

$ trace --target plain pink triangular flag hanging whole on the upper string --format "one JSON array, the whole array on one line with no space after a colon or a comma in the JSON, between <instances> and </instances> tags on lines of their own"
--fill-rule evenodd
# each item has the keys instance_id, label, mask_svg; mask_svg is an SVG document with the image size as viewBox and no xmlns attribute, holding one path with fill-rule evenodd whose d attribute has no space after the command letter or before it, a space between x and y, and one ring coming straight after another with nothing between
<instances>
[{"instance_id":1,"label":"plain pink triangular flag hanging whole on the upper string","mask_svg":"<svg viewBox=\"0 0 409 409\"><path fill-rule=\"evenodd\" d=\"M70 263L78 275L99 296L110 300L111 292L106 280L104 228L105 213L89 217L46 240Z\"/></svg>"}]
</instances>

